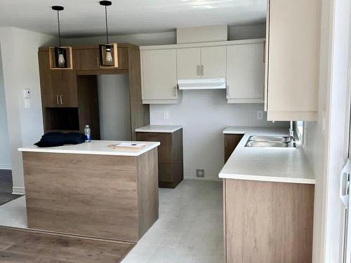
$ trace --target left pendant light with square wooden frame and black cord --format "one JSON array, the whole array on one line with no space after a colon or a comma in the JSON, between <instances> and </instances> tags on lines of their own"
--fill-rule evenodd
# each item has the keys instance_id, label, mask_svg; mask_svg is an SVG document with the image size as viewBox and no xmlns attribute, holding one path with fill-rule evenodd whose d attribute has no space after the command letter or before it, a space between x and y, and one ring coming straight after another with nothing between
<instances>
[{"instance_id":1,"label":"left pendant light with square wooden frame and black cord","mask_svg":"<svg viewBox=\"0 0 351 263\"><path fill-rule=\"evenodd\" d=\"M51 69L72 69L72 48L61 46L60 11L63 6L51 6L58 13L58 46L49 48Z\"/></svg>"}]
</instances>

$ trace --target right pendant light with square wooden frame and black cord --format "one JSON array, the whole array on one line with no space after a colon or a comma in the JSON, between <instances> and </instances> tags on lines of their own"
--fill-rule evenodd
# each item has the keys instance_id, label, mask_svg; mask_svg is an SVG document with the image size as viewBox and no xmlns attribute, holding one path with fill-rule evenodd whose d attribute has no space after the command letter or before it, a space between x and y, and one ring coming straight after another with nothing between
<instances>
[{"instance_id":1,"label":"right pendant light with square wooden frame and black cord","mask_svg":"<svg viewBox=\"0 0 351 263\"><path fill-rule=\"evenodd\" d=\"M112 1L100 1L100 5L105 6L106 26L106 44L99 45L100 67L118 67L117 43L110 43L107 23L107 6L111 6Z\"/></svg>"}]
</instances>

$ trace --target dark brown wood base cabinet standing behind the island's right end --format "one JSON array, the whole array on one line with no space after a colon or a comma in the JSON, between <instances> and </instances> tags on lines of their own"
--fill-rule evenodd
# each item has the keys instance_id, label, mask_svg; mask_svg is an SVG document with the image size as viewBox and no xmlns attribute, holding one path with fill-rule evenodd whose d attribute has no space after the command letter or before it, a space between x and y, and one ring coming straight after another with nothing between
<instances>
[{"instance_id":1,"label":"dark brown wood base cabinet standing behind the island's right end","mask_svg":"<svg viewBox=\"0 0 351 263\"><path fill-rule=\"evenodd\" d=\"M183 181L183 129L173 133L137 132L138 141L161 142L158 147L159 187L176 188Z\"/></svg>"}]
</instances>

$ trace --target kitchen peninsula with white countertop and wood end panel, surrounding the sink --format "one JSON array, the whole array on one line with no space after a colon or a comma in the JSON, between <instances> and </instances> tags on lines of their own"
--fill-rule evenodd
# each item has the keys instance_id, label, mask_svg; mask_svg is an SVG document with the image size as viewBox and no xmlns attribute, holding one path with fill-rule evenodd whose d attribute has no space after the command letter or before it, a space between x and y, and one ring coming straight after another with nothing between
<instances>
[{"instance_id":1,"label":"kitchen peninsula with white countertop and wood end panel, surrounding the sink","mask_svg":"<svg viewBox=\"0 0 351 263\"><path fill-rule=\"evenodd\" d=\"M251 135L289 136L287 128L223 133L243 135L219 173L225 262L312 262L315 180L303 148L245 146Z\"/></svg>"}]
</instances>

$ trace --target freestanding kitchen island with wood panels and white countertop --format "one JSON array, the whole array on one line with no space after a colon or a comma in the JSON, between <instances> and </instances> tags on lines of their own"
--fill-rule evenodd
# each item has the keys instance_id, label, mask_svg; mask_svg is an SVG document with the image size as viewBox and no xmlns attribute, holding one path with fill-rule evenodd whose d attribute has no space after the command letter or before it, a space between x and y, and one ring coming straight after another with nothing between
<instances>
[{"instance_id":1,"label":"freestanding kitchen island with wood panels and white countertop","mask_svg":"<svg viewBox=\"0 0 351 263\"><path fill-rule=\"evenodd\" d=\"M158 219L157 147L22 147L30 229L138 241ZM140 142L138 142L140 143Z\"/></svg>"}]
</instances>

